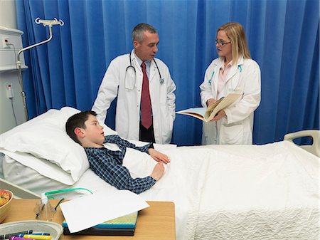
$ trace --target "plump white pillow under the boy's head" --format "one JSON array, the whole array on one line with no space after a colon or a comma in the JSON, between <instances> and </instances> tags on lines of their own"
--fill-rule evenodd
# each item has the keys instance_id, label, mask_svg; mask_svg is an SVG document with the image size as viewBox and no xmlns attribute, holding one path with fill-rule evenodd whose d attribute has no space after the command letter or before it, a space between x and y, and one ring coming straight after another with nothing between
<instances>
[{"instance_id":1,"label":"plump white pillow under the boy's head","mask_svg":"<svg viewBox=\"0 0 320 240\"><path fill-rule=\"evenodd\" d=\"M80 110L65 107L61 110L50 109L28 122L24 122L14 129L0 135L0 152L24 152L38 157L41 160L23 160L23 157L11 155L16 161L35 169L37 172L65 184L73 184L78 181L83 172L89 168L87 155L83 147L74 142L65 132L65 122L71 115L79 113ZM105 126L105 134L116 134ZM48 160L58 165L67 174L70 174L73 182L66 181L61 177L60 168L45 167L43 162ZM36 161L36 162L34 162ZM46 162L46 161L44 161ZM67 183L68 182L68 183Z\"/></svg>"}]
</instances>

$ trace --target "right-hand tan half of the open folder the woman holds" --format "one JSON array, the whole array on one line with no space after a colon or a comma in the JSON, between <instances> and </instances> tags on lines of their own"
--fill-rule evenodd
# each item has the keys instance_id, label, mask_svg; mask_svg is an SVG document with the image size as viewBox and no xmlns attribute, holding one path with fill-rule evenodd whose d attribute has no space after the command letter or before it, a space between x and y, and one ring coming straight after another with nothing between
<instances>
[{"instance_id":1,"label":"right-hand tan half of the open folder the woman holds","mask_svg":"<svg viewBox=\"0 0 320 240\"><path fill-rule=\"evenodd\" d=\"M235 103L238 98L242 96L242 93L230 93L226 95L224 98L220 98L217 102L213 103L213 105L210 105L208 108L208 111L206 112L205 118L207 121L213 120L215 115L219 113L220 110L223 110L225 108L228 108L230 105ZM211 110L211 112L209 111Z\"/></svg>"}]
</instances>

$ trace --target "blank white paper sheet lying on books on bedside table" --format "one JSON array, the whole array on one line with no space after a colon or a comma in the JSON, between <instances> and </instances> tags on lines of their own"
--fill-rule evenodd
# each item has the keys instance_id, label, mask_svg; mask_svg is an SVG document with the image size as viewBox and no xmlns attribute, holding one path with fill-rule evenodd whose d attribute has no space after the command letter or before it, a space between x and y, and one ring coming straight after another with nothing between
<instances>
[{"instance_id":1,"label":"blank white paper sheet lying on books on bedside table","mask_svg":"<svg viewBox=\"0 0 320 240\"><path fill-rule=\"evenodd\" d=\"M142 197L128 190L96 192L60 204L71 233L90 228L103 221L149 207Z\"/></svg>"}]
</instances>

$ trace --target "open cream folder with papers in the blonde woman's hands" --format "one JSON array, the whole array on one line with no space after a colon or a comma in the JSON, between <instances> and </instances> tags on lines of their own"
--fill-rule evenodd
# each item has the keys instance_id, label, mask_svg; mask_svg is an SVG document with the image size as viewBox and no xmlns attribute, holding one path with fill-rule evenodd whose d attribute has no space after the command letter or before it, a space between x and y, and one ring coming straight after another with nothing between
<instances>
[{"instance_id":1,"label":"open cream folder with papers in the blonde woman's hands","mask_svg":"<svg viewBox=\"0 0 320 240\"><path fill-rule=\"evenodd\" d=\"M198 118L203 120L204 122L210 122L213 120L215 115L219 113L220 110L228 108L230 105L235 103L242 96L242 93L230 93L226 95L224 98L220 98L215 103L210 105L208 108L188 108L186 110L181 110L176 113L189 115L194 118Z\"/></svg>"}]
</instances>

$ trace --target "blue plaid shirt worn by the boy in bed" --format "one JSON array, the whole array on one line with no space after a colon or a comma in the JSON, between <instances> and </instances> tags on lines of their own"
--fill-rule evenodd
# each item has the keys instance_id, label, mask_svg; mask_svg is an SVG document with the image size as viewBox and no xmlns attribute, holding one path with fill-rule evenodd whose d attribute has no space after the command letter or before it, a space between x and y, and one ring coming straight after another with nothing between
<instances>
[{"instance_id":1,"label":"blue plaid shirt worn by the boy in bed","mask_svg":"<svg viewBox=\"0 0 320 240\"><path fill-rule=\"evenodd\" d=\"M153 148L152 143L137 147L118 135L105 136L104 143L108 142L116 143L120 150L112 151L105 147L85 147L90 168L95 174L104 179L105 182L117 187L117 189L127 189L136 194L146 191L156 183L156 180L150 176L133 179L127 167L122 166L127 147L148 153L148 149Z\"/></svg>"}]
</instances>

